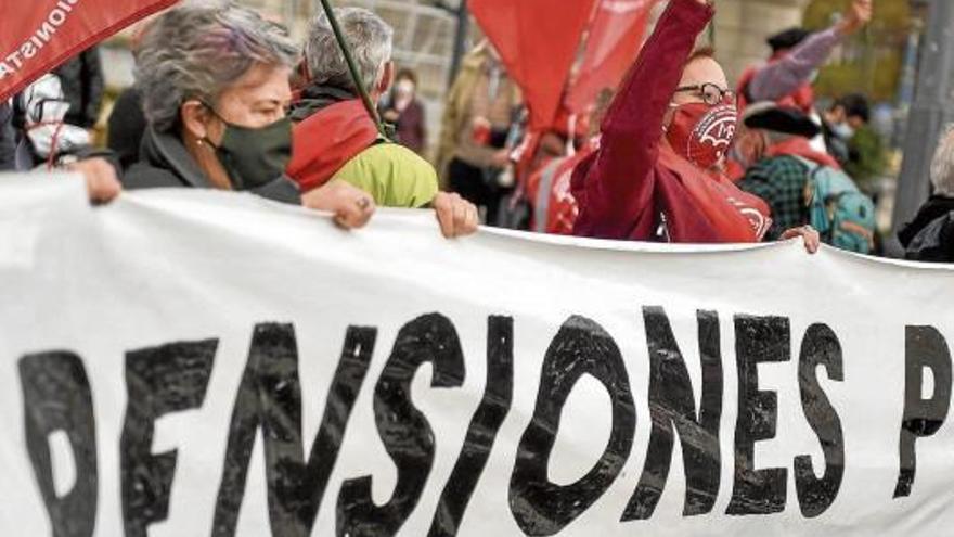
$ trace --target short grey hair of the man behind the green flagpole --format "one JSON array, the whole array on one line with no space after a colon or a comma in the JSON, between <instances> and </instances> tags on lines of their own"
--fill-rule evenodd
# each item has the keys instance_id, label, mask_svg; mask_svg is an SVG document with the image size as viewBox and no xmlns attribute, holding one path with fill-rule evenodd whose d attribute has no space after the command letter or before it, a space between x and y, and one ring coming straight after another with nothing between
<instances>
[{"instance_id":1,"label":"short grey hair of the man behind the green flagpole","mask_svg":"<svg viewBox=\"0 0 954 537\"><path fill-rule=\"evenodd\" d=\"M351 47L364 89L371 93L381 81L385 65L391 60L395 30L379 16L362 8L338 8L335 16ZM311 82L357 93L358 88L348 72L345 54L335 40L325 14L311 22L305 43L305 61Z\"/></svg>"}]
</instances>

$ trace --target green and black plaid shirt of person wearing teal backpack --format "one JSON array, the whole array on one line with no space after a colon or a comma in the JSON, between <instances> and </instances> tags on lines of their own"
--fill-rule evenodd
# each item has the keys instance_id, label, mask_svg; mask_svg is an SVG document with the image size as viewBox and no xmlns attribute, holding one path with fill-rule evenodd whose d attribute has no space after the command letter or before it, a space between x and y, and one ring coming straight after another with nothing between
<instances>
[{"instance_id":1,"label":"green and black plaid shirt of person wearing teal backpack","mask_svg":"<svg viewBox=\"0 0 954 537\"><path fill-rule=\"evenodd\" d=\"M765 158L746 171L738 188L755 194L772 208L772 227L766 241L776 241L791 228L809 221L805 187L809 168L791 156Z\"/></svg>"}]
</instances>

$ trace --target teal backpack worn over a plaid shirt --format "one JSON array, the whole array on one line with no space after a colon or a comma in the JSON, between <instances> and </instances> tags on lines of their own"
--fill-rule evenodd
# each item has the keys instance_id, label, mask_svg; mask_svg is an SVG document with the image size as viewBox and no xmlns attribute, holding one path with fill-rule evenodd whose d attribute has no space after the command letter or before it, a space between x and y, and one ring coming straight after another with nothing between
<instances>
[{"instance_id":1,"label":"teal backpack worn over a plaid shirt","mask_svg":"<svg viewBox=\"0 0 954 537\"><path fill-rule=\"evenodd\" d=\"M848 175L807 158L809 168L805 200L809 223L822 242L836 248L869 254L875 248L875 203L859 190Z\"/></svg>"}]
</instances>

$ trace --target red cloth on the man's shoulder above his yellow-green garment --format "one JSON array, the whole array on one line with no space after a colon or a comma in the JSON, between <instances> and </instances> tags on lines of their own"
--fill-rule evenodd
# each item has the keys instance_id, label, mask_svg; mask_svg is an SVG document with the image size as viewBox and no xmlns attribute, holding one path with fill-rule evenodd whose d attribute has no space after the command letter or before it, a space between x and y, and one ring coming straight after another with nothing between
<instances>
[{"instance_id":1,"label":"red cloth on the man's shoulder above his yellow-green garment","mask_svg":"<svg viewBox=\"0 0 954 537\"><path fill-rule=\"evenodd\" d=\"M377 128L359 99L323 108L293 130L288 177L301 192L314 190L377 140Z\"/></svg>"}]
</instances>

